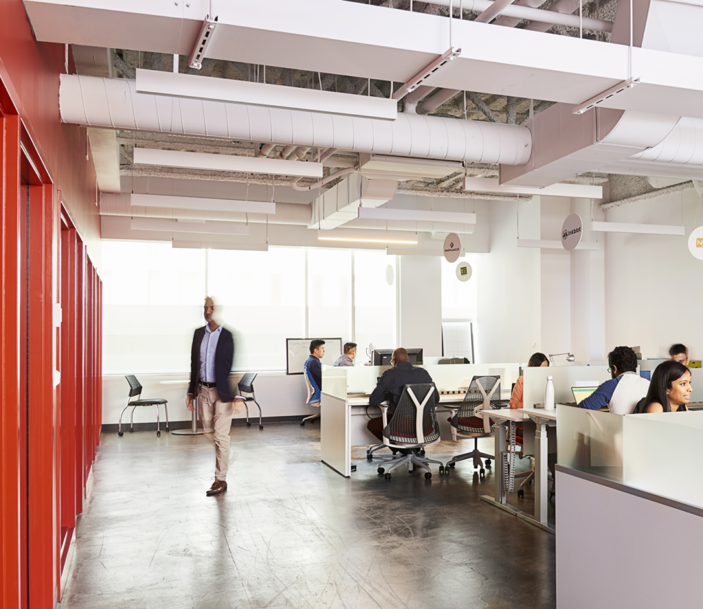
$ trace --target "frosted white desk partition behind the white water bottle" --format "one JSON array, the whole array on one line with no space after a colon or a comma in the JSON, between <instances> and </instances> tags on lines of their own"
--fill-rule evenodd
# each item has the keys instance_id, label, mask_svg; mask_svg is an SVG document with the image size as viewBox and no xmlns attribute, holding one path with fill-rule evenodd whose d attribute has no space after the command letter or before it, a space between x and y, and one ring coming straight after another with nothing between
<instances>
[{"instance_id":1,"label":"frosted white desk partition behind the white water bottle","mask_svg":"<svg viewBox=\"0 0 703 609\"><path fill-rule=\"evenodd\" d=\"M552 377L554 401L574 402L572 387L597 387L610 378L607 366L549 366L548 368L524 368L522 404L532 408L544 404L544 388L547 377Z\"/></svg>"}]
</instances>

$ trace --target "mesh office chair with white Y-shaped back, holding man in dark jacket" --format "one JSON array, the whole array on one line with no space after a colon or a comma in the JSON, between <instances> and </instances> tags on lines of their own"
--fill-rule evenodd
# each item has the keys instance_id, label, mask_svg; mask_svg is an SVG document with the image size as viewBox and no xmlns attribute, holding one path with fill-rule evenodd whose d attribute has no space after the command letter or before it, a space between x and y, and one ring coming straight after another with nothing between
<instances>
[{"instance_id":1,"label":"mesh office chair with white Y-shaped back, holding man in dark jacket","mask_svg":"<svg viewBox=\"0 0 703 609\"><path fill-rule=\"evenodd\" d=\"M412 472L415 466L419 466L427 470L425 477L430 479L432 477L428 467L430 463L439 463L439 473L442 473L444 465L441 461L427 459L420 454L420 449L439 442L434 383L406 385L389 422L386 420L388 404L382 404L380 409L383 416L385 445L389 448L410 449L410 451L408 454L396 455L388 471L380 467L378 473L384 474L385 479L390 480L392 470L407 464L408 473Z\"/></svg>"}]
</instances>

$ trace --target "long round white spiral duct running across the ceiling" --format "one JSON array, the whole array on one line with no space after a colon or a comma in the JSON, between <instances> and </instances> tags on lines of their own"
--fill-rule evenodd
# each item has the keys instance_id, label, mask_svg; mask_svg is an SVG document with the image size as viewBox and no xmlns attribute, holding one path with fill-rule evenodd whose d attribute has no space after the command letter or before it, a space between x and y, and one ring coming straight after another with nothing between
<instances>
[{"instance_id":1,"label":"long round white spiral duct running across the ceiling","mask_svg":"<svg viewBox=\"0 0 703 609\"><path fill-rule=\"evenodd\" d=\"M395 121L137 94L135 81L61 75L61 120L91 127L523 165L529 129L399 114Z\"/></svg>"}]
</instances>

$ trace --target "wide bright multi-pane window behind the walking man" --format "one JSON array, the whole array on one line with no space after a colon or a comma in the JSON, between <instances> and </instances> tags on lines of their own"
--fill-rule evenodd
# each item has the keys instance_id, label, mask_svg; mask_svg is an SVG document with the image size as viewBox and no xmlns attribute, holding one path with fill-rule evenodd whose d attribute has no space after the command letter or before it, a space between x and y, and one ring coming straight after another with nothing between
<instances>
[{"instance_id":1,"label":"wide bright multi-pane window behind the walking man","mask_svg":"<svg viewBox=\"0 0 703 609\"><path fill-rule=\"evenodd\" d=\"M283 370L285 339L306 333L354 340L361 364L369 343L396 347L389 266L394 276L395 257L383 251L206 251L105 241L104 371L188 371L193 331L205 323L205 295L234 335L235 369Z\"/></svg>"}]
</instances>

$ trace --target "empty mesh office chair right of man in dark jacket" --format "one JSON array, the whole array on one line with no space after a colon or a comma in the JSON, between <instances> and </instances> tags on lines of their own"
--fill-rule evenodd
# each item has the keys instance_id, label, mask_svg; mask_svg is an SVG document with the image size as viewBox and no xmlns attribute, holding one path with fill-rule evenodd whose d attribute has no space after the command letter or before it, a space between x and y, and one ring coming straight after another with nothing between
<instances>
[{"instance_id":1,"label":"empty mesh office chair right of man in dark jacket","mask_svg":"<svg viewBox=\"0 0 703 609\"><path fill-rule=\"evenodd\" d=\"M491 466L493 455L479 451L479 437L491 437L496 429L496 423L483 417L484 410L497 410L501 407L501 377L500 376L475 376L471 379L466 390L461 406L446 404L446 408L453 412L449 418L451 423L451 439L456 442L457 437L474 439L474 449L471 452L460 454L446 464L444 473L449 474L458 461L473 459L474 469L479 469L479 475L486 475L481 459L486 459L486 467Z\"/></svg>"}]
</instances>

